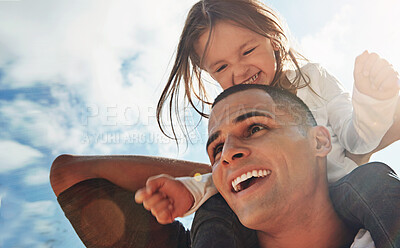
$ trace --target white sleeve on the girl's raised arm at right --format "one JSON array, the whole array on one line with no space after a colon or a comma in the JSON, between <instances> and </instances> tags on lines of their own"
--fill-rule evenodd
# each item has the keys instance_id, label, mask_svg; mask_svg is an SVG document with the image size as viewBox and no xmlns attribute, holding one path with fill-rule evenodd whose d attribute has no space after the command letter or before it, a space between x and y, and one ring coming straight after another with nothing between
<instances>
[{"instance_id":1,"label":"white sleeve on the girl's raised arm at right","mask_svg":"<svg viewBox=\"0 0 400 248\"><path fill-rule=\"evenodd\" d=\"M351 99L336 78L325 69L318 69L320 79L316 80L317 87L322 98L327 101L328 123L339 143L354 154L368 153L375 149L393 124L398 96L381 101L354 88Z\"/></svg>"}]
</instances>

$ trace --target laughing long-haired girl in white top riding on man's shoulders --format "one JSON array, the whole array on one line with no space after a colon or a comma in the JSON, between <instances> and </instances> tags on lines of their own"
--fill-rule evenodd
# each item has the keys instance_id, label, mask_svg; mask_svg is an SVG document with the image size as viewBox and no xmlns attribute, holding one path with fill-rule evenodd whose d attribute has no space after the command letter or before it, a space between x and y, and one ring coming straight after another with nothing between
<instances>
[{"instance_id":1,"label":"laughing long-haired girl in white top riding on man's shoulders","mask_svg":"<svg viewBox=\"0 0 400 248\"><path fill-rule=\"evenodd\" d=\"M328 156L327 176L329 182L337 184L332 201L339 215L354 228L370 230L378 248L400 247L399 193L394 196L379 193L389 187L393 192L400 192L399 181L389 176L393 172L386 166L362 166L360 175L365 178L346 176L357 168L346 152L352 153L349 157L355 157L353 154L369 153L398 139L386 139L386 136L382 139L393 124L398 104L398 74L378 55L364 52L356 59L351 102L349 94L334 77L317 64L300 65L299 59L306 61L290 47L274 12L261 3L253 0L200 1L189 11L175 64L158 104L160 127L165 104L168 103L170 111L174 102L177 104L182 83L189 104L202 116L207 116L202 111L204 106L196 108L193 100L195 96L203 104L207 103L202 71L211 75L223 89L243 83L288 89L309 106L318 124L331 132L333 149ZM194 92L195 88L199 91ZM149 179L147 188L137 192L136 200L144 202L160 223L169 223L174 217L194 212L217 193L209 174L180 181L186 187L168 176ZM182 197L182 192L186 192L186 197ZM345 195L341 197L341 194ZM220 200L214 198L214 201ZM207 221L240 225L234 217L224 219L224 212L230 211L227 206L220 207L219 202L213 201L207 204L208 214L212 216ZM202 231L205 230L196 230L196 235L201 236ZM240 231L231 229L224 232L228 233L225 239L235 240L240 235ZM207 230L207 233L212 232ZM216 233L222 232L216 230ZM229 241L224 244L239 247ZM244 247L250 246L244 244Z\"/></svg>"}]
</instances>

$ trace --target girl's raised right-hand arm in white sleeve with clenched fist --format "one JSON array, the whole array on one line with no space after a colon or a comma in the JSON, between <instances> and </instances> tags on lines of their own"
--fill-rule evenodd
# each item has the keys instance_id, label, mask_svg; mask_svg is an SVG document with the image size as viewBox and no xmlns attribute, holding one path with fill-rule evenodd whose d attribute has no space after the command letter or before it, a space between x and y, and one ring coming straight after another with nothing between
<instances>
[{"instance_id":1,"label":"girl's raised right-hand arm in white sleeve with clenched fist","mask_svg":"<svg viewBox=\"0 0 400 248\"><path fill-rule=\"evenodd\" d=\"M363 54L363 56L369 56L369 54ZM357 68L360 68L360 66L358 66L359 62L359 59L356 60L355 75L357 75L359 71ZM353 98L350 98L341 84L333 76L329 75L323 68L318 66L317 68L319 73L310 70L310 81L312 88L317 89L317 93L322 100L312 99L312 101L325 102L325 104L317 104L319 105L317 108L321 108L321 105L326 106L326 113L321 111L315 115L317 121L321 121L319 124L330 125L332 128L331 131L336 134L340 145L351 153L368 154L377 149L383 137L394 123L394 114L398 105L399 89L396 84L398 80L396 77L398 74L393 68L389 67L391 70L384 72L392 74L392 76L386 78L390 78L390 83L385 83L384 85L393 86L393 90L388 90L388 87L380 87L378 90L373 90L371 87L371 94L366 94L365 87L359 86L371 85L371 83L374 84L374 80L377 79L377 77L355 76L357 87L354 87ZM376 94L381 90L385 92L383 92L383 94ZM386 94L386 92L390 94ZM374 94L376 94L378 98L373 97ZM311 105L313 104L312 101ZM309 105L309 103L307 103L307 105ZM318 116L318 114L321 114L321 116ZM326 120L324 114L327 115L326 123L322 123ZM390 137L388 141L382 143L380 149L392 143L394 140L397 139Z\"/></svg>"}]
</instances>

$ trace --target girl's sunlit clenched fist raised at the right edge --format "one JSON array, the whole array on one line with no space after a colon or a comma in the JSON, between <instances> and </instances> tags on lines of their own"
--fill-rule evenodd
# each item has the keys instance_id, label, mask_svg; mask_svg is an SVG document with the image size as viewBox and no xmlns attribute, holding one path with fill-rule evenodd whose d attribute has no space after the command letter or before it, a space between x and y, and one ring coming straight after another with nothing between
<instances>
[{"instance_id":1,"label":"girl's sunlit clenched fist raised at the right edge","mask_svg":"<svg viewBox=\"0 0 400 248\"><path fill-rule=\"evenodd\" d=\"M361 93L377 100L390 99L399 94L399 74L393 66L376 53L364 51L356 58L354 84Z\"/></svg>"}]
</instances>

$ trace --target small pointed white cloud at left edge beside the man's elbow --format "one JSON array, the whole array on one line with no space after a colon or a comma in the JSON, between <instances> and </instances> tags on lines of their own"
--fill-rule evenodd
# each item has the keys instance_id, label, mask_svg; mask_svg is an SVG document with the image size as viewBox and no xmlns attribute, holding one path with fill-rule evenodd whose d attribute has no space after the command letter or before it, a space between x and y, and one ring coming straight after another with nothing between
<instances>
[{"instance_id":1,"label":"small pointed white cloud at left edge beside the man's elbow","mask_svg":"<svg viewBox=\"0 0 400 248\"><path fill-rule=\"evenodd\" d=\"M13 140L0 140L0 173L26 167L42 157L40 151L30 146Z\"/></svg>"}]
</instances>

